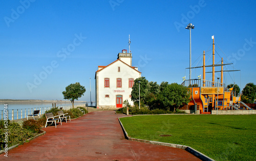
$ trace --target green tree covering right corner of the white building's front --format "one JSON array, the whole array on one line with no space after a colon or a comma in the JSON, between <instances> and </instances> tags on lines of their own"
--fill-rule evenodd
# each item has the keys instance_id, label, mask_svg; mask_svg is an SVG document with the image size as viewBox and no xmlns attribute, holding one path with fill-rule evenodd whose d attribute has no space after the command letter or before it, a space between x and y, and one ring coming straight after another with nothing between
<instances>
[{"instance_id":1,"label":"green tree covering right corner of the white building's front","mask_svg":"<svg viewBox=\"0 0 256 161\"><path fill-rule=\"evenodd\" d=\"M140 81L140 83L139 83ZM140 85L140 100L144 101L146 94L148 93L148 81L142 76L134 80L132 88L132 101L139 101L139 85Z\"/></svg>"}]
</instances>

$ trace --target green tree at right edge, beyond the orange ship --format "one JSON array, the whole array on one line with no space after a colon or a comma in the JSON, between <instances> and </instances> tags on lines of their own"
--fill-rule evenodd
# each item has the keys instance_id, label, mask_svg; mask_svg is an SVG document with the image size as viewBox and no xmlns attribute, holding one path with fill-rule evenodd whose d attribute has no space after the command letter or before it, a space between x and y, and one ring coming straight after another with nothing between
<instances>
[{"instance_id":1,"label":"green tree at right edge, beyond the orange ship","mask_svg":"<svg viewBox=\"0 0 256 161\"><path fill-rule=\"evenodd\" d=\"M245 103L253 103L256 99L256 85L248 83L242 91L241 100Z\"/></svg>"}]
</instances>

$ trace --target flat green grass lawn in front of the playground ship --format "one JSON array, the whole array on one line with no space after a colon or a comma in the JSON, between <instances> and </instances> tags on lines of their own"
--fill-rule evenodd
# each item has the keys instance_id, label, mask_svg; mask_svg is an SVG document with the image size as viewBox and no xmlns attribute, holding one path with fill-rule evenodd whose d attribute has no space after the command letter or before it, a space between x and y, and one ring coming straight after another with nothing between
<instances>
[{"instance_id":1,"label":"flat green grass lawn in front of the playground ship","mask_svg":"<svg viewBox=\"0 0 256 161\"><path fill-rule=\"evenodd\" d=\"M190 146L215 160L256 160L256 115L151 115L120 120L132 138Z\"/></svg>"}]
</instances>

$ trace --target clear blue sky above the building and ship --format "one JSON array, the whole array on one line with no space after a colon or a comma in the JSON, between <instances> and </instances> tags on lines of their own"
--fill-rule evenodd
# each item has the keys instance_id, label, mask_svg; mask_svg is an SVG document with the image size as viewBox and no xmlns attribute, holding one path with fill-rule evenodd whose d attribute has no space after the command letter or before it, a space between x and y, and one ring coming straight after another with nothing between
<instances>
[{"instance_id":1,"label":"clear blue sky above the building and ship","mask_svg":"<svg viewBox=\"0 0 256 161\"><path fill-rule=\"evenodd\" d=\"M193 66L202 65L197 59L203 50L211 55L215 35L216 63L223 57L234 63L228 70L241 70L226 73L224 83L236 82L242 90L256 84L255 6L256 1L2 0L0 98L63 100L65 87L79 82L87 90L79 100L89 101L91 77L94 101L97 66L128 49L129 34L133 66L142 76L181 84L189 77L188 23L195 25ZM200 74L194 70L192 78Z\"/></svg>"}]
</instances>

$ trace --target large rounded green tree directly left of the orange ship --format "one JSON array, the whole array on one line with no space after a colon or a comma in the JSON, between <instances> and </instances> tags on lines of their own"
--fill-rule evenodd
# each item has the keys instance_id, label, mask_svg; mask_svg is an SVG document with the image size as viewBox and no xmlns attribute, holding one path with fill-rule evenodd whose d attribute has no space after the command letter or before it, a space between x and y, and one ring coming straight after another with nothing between
<instances>
[{"instance_id":1,"label":"large rounded green tree directly left of the orange ship","mask_svg":"<svg viewBox=\"0 0 256 161\"><path fill-rule=\"evenodd\" d=\"M166 83L162 83L161 85L163 86L160 90L160 101L166 110L172 108L176 112L181 105L190 101L190 92L187 87L177 83L168 84L167 86Z\"/></svg>"}]
</instances>

